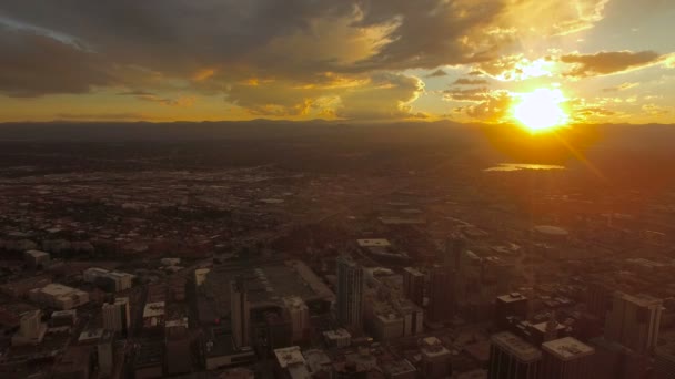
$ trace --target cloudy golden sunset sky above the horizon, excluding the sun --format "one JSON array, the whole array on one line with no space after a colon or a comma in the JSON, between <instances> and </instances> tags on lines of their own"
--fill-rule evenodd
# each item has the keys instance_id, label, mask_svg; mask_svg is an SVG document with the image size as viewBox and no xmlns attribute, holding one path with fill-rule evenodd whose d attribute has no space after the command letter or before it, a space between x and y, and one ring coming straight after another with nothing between
<instances>
[{"instance_id":1,"label":"cloudy golden sunset sky above the horizon, excluding the sun","mask_svg":"<svg viewBox=\"0 0 675 379\"><path fill-rule=\"evenodd\" d=\"M675 123L673 0L0 0L0 122Z\"/></svg>"}]
</instances>

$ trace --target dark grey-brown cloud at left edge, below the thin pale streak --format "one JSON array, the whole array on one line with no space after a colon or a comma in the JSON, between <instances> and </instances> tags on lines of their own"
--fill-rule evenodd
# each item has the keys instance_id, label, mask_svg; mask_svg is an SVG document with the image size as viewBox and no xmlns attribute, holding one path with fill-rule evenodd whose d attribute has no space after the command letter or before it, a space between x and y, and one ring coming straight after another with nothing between
<instances>
[{"instance_id":1,"label":"dark grey-brown cloud at left edge, below the thin pale streak","mask_svg":"<svg viewBox=\"0 0 675 379\"><path fill-rule=\"evenodd\" d=\"M0 27L0 92L10 96L87 93L115 82L108 64L50 37Z\"/></svg>"}]
</instances>

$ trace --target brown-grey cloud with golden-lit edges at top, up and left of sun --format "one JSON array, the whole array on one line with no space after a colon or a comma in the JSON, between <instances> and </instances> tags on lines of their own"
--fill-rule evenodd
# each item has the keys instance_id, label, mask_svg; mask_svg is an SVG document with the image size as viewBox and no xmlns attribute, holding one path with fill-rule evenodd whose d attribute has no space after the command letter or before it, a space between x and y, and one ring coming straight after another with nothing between
<instances>
[{"instance_id":1,"label":"brown-grey cloud with golden-lit edges at top, up and left of sun","mask_svg":"<svg viewBox=\"0 0 675 379\"><path fill-rule=\"evenodd\" d=\"M506 1L371 0L362 1L362 27L400 21L391 42L363 68L433 69L474 63L496 55L497 42L482 32L504 11ZM474 38L480 34L481 38Z\"/></svg>"}]
</instances>

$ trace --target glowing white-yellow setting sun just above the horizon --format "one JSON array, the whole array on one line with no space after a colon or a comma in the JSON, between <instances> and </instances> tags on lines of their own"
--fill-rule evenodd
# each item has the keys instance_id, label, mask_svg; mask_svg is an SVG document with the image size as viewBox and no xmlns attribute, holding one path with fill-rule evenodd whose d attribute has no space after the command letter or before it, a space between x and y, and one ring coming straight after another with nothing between
<instances>
[{"instance_id":1,"label":"glowing white-yellow setting sun just above the horizon","mask_svg":"<svg viewBox=\"0 0 675 379\"><path fill-rule=\"evenodd\" d=\"M550 131L567 123L570 116L561 103L566 99L558 89L538 89L521 93L513 116L532 133Z\"/></svg>"}]
</instances>

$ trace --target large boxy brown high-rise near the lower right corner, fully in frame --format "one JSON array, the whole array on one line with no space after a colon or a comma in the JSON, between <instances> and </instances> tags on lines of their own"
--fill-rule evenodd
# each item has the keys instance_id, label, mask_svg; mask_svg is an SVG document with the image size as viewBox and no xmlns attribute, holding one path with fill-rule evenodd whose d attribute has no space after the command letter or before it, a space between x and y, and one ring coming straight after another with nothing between
<instances>
[{"instance_id":1,"label":"large boxy brown high-rise near the lower right corner, fully in frame","mask_svg":"<svg viewBox=\"0 0 675 379\"><path fill-rule=\"evenodd\" d=\"M656 347L663 301L647 295L615 293L605 322L605 338L636 351Z\"/></svg>"}]
</instances>

